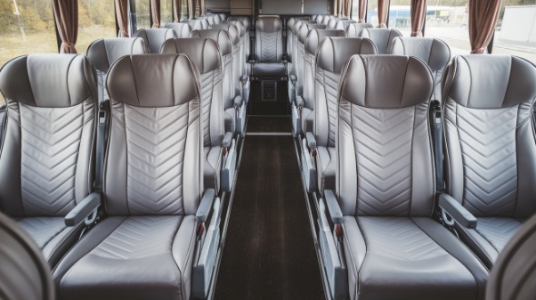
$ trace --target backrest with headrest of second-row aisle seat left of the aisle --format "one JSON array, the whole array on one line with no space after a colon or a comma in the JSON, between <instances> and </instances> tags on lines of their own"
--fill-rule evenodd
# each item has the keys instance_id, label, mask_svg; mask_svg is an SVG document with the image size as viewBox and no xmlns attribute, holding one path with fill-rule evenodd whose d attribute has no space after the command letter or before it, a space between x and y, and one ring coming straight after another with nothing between
<instances>
[{"instance_id":1,"label":"backrest with headrest of second-row aisle seat left of the aisle","mask_svg":"<svg viewBox=\"0 0 536 300\"><path fill-rule=\"evenodd\" d=\"M213 39L187 38L167 40L161 53L184 53L197 66L201 84L203 146L221 146L223 140L223 95L221 55Z\"/></svg>"}]
</instances>

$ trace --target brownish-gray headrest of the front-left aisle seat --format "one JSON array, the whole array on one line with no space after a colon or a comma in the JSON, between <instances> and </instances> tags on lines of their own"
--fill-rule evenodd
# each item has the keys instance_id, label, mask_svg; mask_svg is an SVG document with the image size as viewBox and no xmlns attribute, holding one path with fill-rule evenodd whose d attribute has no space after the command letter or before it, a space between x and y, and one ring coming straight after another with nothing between
<instances>
[{"instance_id":1,"label":"brownish-gray headrest of the front-left aisle seat","mask_svg":"<svg viewBox=\"0 0 536 300\"><path fill-rule=\"evenodd\" d=\"M106 86L114 101L138 107L170 107L199 97L199 74L185 54L141 54L120 58Z\"/></svg>"}]
</instances>

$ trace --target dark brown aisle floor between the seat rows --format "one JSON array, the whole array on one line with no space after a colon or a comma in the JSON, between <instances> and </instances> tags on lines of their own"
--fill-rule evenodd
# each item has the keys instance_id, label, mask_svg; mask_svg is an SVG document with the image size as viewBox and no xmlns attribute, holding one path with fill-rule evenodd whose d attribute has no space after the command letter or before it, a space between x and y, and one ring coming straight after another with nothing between
<instances>
[{"instance_id":1,"label":"dark brown aisle floor between the seat rows","mask_svg":"<svg viewBox=\"0 0 536 300\"><path fill-rule=\"evenodd\" d=\"M214 299L324 299L291 136L244 140Z\"/></svg>"}]
</instances>

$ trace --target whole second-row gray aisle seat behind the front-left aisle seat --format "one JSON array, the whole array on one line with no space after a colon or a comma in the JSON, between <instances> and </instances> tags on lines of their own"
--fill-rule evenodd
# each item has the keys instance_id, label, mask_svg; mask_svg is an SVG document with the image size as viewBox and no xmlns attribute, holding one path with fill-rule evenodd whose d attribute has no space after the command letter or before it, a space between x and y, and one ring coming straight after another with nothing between
<instances>
[{"instance_id":1,"label":"whole second-row gray aisle seat behind the front-left aisle seat","mask_svg":"<svg viewBox=\"0 0 536 300\"><path fill-rule=\"evenodd\" d=\"M164 43L161 53L184 53L197 66L203 111L203 186L231 191L236 149L233 132L224 131L223 72L218 44L210 38L173 39Z\"/></svg>"}]
</instances>

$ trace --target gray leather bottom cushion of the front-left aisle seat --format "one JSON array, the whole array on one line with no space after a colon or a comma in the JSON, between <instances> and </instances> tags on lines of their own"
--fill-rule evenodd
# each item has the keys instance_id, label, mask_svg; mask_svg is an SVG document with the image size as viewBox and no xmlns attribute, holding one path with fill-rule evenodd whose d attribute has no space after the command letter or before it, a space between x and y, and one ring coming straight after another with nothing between
<instances>
[{"instance_id":1,"label":"gray leather bottom cushion of the front-left aisle seat","mask_svg":"<svg viewBox=\"0 0 536 300\"><path fill-rule=\"evenodd\" d=\"M54 272L60 298L189 299L194 216L110 217Z\"/></svg>"}]
</instances>

